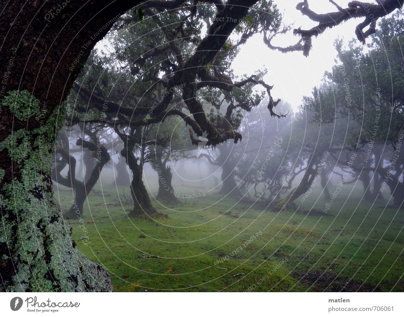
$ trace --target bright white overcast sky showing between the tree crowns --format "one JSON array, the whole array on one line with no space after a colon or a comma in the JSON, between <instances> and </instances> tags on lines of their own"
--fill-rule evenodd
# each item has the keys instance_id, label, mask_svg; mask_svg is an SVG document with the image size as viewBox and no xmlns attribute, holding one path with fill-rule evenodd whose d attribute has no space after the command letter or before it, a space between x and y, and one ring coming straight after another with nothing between
<instances>
[{"instance_id":1,"label":"bright white overcast sky showing between the tree crowns","mask_svg":"<svg viewBox=\"0 0 404 317\"><path fill-rule=\"evenodd\" d=\"M295 9L299 0L277 0L280 11L284 11L286 24L294 23L294 27L301 26L308 29L315 26L315 22L301 15ZM336 1L343 8L347 1ZM328 0L309 1L310 9L317 13L336 11L336 8ZM326 30L318 38L313 38L313 49L309 57L304 57L302 52L291 52L283 54L271 51L264 43L262 35L250 38L241 48L233 68L235 74L252 74L263 66L268 68L268 75L265 80L268 84L274 85L272 97L281 98L296 109L300 105L303 96L311 95L312 88L321 82L326 70L331 70L336 58L334 40L338 37L347 43L355 37L355 27L360 20L350 20L341 26ZM291 33L291 32L290 32ZM299 38L292 34L279 35L274 39L273 44L286 47L297 42Z\"/></svg>"}]
</instances>

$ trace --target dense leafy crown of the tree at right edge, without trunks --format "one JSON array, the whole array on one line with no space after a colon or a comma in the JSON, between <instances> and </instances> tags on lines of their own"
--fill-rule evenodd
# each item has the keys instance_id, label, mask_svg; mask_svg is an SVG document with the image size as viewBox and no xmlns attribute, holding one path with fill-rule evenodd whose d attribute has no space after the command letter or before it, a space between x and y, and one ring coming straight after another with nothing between
<instances>
[{"instance_id":1,"label":"dense leafy crown of the tree at right edge, without trunks","mask_svg":"<svg viewBox=\"0 0 404 317\"><path fill-rule=\"evenodd\" d=\"M336 41L338 64L324 76L323 84L305 98L314 121L347 118L352 146L372 142L396 142L404 122L402 46L404 20L400 13L385 18L366 52L350 43L343 49ZM351 124L354 126L354 124Z\"/></svg>"}]
</instances>

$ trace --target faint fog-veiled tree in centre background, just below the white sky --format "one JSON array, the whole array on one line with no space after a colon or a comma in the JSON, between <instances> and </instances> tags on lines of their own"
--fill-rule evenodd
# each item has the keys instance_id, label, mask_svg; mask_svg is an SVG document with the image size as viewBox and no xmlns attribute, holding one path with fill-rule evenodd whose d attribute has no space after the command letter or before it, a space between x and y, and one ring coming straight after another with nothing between
<instances>
[{"instance_id":1,"label":"faint fog-veiled tree in centre background, just below the white sky","mask_svg":"<svg viewBox=\"0 0 404 317\"><path fill-rule=\"evenodd\" d=\"M265 104L243 113L240 130L246 140L235 172L240 188L247 194L254 189L254 196L268 205L284 194L283 183L290 171L284 142L289 139L293 115L290 105L281 102L278 111L288 113L286 119L266 116Z\"/></svg>"}]
</instances>

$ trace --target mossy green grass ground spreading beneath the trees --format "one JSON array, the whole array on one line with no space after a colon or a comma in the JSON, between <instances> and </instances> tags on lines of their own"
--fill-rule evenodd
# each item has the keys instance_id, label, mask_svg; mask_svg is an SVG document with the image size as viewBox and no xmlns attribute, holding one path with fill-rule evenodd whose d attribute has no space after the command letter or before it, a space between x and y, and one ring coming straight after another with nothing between
<instances>
[{"instance_id":1,"label":"mossy green grass ground spreading beneath the trees","mask_svg":"<svg viewBox=\"0 0 404 317\"><path fill-rule=\"evenodd\" d=\"M322 198L311 212L271 212L220 195L180 197L154 201L168 219L149 221L128 218L129 190L119 193L96 188L83 223L67 221L115 291L404 291L404 213L358 204L360 195L338 197L327 213ZM56 195L69 206L70 191Z\"/></svg>"}]
</instances>

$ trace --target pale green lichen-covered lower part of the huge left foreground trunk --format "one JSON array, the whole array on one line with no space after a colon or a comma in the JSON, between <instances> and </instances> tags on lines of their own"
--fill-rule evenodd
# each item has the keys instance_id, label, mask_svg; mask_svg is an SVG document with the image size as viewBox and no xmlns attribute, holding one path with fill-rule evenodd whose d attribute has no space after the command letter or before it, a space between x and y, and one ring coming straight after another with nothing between
<instances>
[{"instance_id":1,"label":"pale green lichen-covered lower part of the huge left foreground trunk","mask_svg":"<svg viewBox=\"0 0 404 317\"><path fill-rule=\"evenodd\" d=\"M13 100L21 96L25 102ZM0 291L112 291L106 269L73 246L71 228L53 197L51 162L65 106L45 120L33 96L13 91L6 98L9 107L24 104L25 110L10 107L16 116L38 124L0 143L13 167L0 173ZM26 100L38 106L29 106L29 115Z\"/></svg>"}]
</instances>

